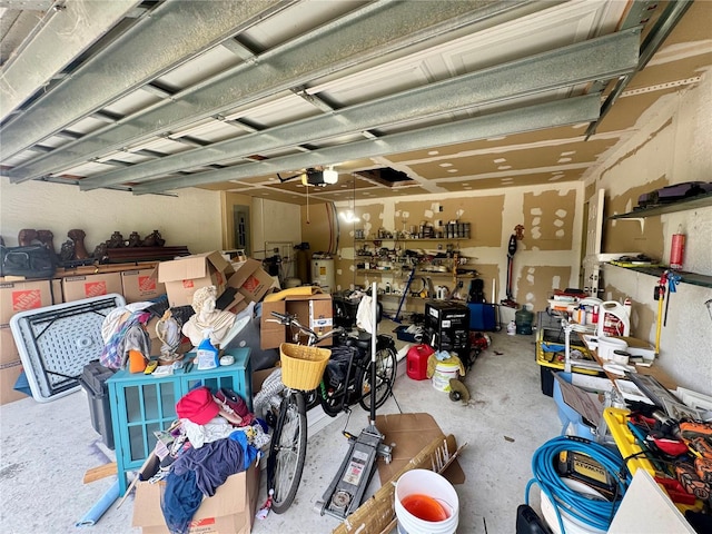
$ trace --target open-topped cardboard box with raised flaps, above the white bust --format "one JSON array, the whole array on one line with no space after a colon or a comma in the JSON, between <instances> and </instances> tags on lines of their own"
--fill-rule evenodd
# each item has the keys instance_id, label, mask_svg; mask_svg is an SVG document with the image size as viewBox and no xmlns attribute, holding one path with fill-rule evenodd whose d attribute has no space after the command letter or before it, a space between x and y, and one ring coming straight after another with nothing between
<instances>
[{"instance_id":1,"label":"open-topped cardboard box with raised flaps, above the white bust","mask_svg":"<svg viewBox=\"0 0 712 534\"><path fill-rule=\"evenodd\" d=\"M166 285L170 307L191 305L192 295L206 286L215 286L219 296L227 287L230 274L231 265L217 250L158 265L158 281Z\"/></svg>"}]
</instances>

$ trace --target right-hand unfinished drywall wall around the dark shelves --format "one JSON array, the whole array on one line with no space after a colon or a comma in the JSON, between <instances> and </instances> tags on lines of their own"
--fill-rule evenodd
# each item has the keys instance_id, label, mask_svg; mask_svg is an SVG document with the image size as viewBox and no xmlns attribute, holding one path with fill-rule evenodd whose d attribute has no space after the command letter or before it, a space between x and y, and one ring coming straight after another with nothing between
<instances>
[{"instance_id":1,"label":"right-hand unfinished drywall wall around the dark shelves","mask_svg":"<svg viewBox=\"0 0 712 534\"><path fill-rule=\"evenodd\" d=\"M710 72L696 87L666 95L639 120L637 131L611 154L587 185L606 191L606 214L626 212L641 192L683 181L710 181L712 171L712 93ZM712 277L712 207L702 207L606 225L603 251L644 251L670 260L672 235L686 235L683 270ZM609 249L606 247L611 247ZM634 247L634 248L631 248ZM684 275L683 275L684 276ZM604 299L633 300L632 333L655 344L659 303L653 298L657 276L620 267L603 269ZM668 300L661 327L657 363L679 385L712 394L712 315L705 301L712 288L680 284Z\"/></svg>"}]
</instances>

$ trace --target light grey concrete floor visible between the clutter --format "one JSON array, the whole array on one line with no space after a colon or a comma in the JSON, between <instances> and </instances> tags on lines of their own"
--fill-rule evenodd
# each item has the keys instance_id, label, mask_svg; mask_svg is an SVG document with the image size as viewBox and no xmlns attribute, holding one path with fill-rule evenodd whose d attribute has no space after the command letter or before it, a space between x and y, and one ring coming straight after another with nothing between
<instances>
[{"instance_id":1,"label":"light grey concrete floor visible between the clutter","mask_svg":"<svg viewBox=\"0 0 712 534\"><path fill-rule=\"evenodd\" d=\"M380 329L390 333L394 326L384 320ZM524 488L532 476L532 454L561 432L553 399L541 393L534 336L504 332L491 336L491 347L464 377L472 395L467 406L451 402L429 380L416 382L402 374L394 388L397 404L390 399L378 411L427 412L445 434L454 434L458 444L467 442L459 459L467 479L455 486L461 503L459 533L514 532L516 507L524 502ZM257 521L253 533L328 533L338 525L338 520L320 516L314 506L346 454L348 444L342 436L345 422L342 416L310 435L294 505L285 514L271 513ZM356 406L348 428L358 433L366 423L366 413ZM103 446L91 426L85 393L50 403L27 398L1 406L0 431L0 532L77 532L76 523L116 481L110 476L82 483L87 469L113 459L112 451ZM374 478L372 490L379 484L378 477ZM264 481L265 476L259 504L266 498ZM531 498L536 506L538 496ZM132 508L132 496L118 510L115 503L89 532L140 532L131 528Z\"/></svg>"}]
</instances>

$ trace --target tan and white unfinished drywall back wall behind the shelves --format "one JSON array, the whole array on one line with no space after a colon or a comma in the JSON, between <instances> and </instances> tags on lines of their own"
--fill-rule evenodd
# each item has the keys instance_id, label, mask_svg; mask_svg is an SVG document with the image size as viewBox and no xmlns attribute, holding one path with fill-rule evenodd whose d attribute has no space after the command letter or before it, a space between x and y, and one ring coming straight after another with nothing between
<instances>
[{"instance_id":1,"label":"tan and white unfinished drywall back wall behind the shelves","mask_svg":"<svg viewBox=\"0 0 712 534\"><path fill-rule=\"evenodd\" d=\"M400 250L413 249L436 256L451 246L466 258L462 266L476 269L484 283L487 301L498 303L507 296L507 245L517 225L525 227L524 238L517 240L513 258L512 296L518 305L532 310L547 306L553 289L572 287L578 277L581 251L581 214L575 209L582 202L583 185L557 184L555 188L538 186L507 188L501 191L468 191L444 195L397 198L377 201L357 201L356 214L360 218L355 227L344 228L339 238L336 284L340 289L352 285L365 286L376 280L379 288L389 287L397 293L405 290L409 269L397 265L375 265L364 269L369 256L380 247ZM337 204L342 210L350 204ZM452 221L468 222L469 237L447 237L445 225ZM435 239L407 239L421 233L421 227L433 228ZM354 230L363 230L365 240L354 241ZM398 235L397 240L378 239L378 230ZM400 237L406 236L406 239ZM438 237L442 236L442 237ZM573 259L572 259L573 258ZM373 258L372 258L373 259ZM372 261L373 264L373 261ZM362 268L357 268L360 266ZM372 265L374 267L374 265ZM467 294L471 279L456 279L452 273L418 273L408 294L419 293L427 278L434 286L445 286L448 291L458 289ZM395 309L399 297L384 297L384 306ZM408 298L405 312L423 309L423 300ZM514 308L512 315L514 314ZM503 319L508 318L503 314Z\"/></svg>"}]
</instances>

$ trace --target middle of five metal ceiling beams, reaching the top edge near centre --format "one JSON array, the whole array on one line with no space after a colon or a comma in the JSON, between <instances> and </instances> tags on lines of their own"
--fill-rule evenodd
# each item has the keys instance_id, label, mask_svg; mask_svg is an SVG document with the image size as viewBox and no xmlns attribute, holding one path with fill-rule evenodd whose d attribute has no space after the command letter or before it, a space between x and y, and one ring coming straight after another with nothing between
<instances>
[{"instance_id":1,"label":"middle of five metal ceiling beams, reaching the top edge near centre","mask_svg":"<svg viewBox=\"0 0 712 534\"><path fill-rule=\"evenodd\" d=\"M62 147L62 150L24 162L9 176L12 182L20 182L69 169L111 150L160 134L171 134L206 117L438 38L448 31L496 19L505 13L515 17L520 11L548 9L557 3L561 1L368 3L258 55L255 61L198 83L176 95L170 102L158 103L145 112L128 117L116 127L99 130L71 146ZM162 43L156 47L160 50L164 48Z\"/></svg>"}]
</instances>

